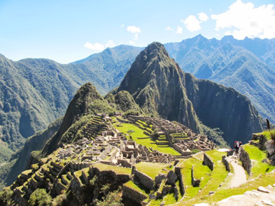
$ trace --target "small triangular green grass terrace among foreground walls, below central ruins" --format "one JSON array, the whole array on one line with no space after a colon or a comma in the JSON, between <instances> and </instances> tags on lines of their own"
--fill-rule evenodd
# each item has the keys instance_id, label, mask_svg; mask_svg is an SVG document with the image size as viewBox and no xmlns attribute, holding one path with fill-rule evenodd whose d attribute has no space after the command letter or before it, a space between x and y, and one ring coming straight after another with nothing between
<instances>
[{"instance_id":1,"label":"small triangular green grass terrace among foreground walls, below central ruins","mask_svg":"<svg viewBox=\"0 0 275 206\"><path fill-rule=\"evenodd\" d=\"M166 169L166 166L167 165L163 163L140 162L135 165L135 168L154 180L155 176L157 176L162 169Z\"/></svg>"}]
</instances>

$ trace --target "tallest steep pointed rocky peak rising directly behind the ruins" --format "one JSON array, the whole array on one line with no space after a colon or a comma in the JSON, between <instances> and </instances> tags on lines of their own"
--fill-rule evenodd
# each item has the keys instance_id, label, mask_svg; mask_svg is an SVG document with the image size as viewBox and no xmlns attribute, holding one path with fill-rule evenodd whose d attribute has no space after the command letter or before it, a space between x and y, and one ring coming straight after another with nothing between
<instances>
[{"instance_id":1,"label":"tallest steep pointed rocky peak rising directly behind the ruins","mask_svg":"<svg viewBox=\"0 0 275 206\"><path fill-rule=\"evenodd\" d=\"M184 90L183 75L164 46L152 43L137 56L118 91L129 91L145 113L181 122L198 132L199 122Z\"/></svg>"}]
</instances>

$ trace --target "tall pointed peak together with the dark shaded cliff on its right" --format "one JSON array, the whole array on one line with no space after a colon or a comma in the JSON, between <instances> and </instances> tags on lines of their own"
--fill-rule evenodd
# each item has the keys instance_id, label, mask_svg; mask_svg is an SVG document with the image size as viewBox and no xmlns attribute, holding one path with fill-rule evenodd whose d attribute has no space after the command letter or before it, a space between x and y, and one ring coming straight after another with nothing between
<instances>
[{"instance_id":1,"label":"tall pointed peak together with the dark shaded cliff on its right","mask_svg":"<svg viewBox=\"0 0 275 206\"><path fill-rule=\"evenodd\" d=\"M160 43L148 45L133 62L118 91L126 90L146 112L175 120L192 130L199 121L220 128L228 143L248 142L262 119L244 95L184 73Z\"/></svg>"}]
</instances>

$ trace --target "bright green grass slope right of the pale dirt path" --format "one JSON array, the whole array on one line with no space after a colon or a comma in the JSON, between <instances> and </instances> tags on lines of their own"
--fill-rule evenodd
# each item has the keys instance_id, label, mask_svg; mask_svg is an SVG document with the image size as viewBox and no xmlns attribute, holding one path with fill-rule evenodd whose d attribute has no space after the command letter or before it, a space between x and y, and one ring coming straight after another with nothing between
<instances>
[{"instance_id":1,"label":"bright green grass slope right of the pale dirt path","mask_svg":"<svg viewBox=\"0 0 275 206\"><path fill-rule=\"evenodd\" d=\"M275 166L261 162L263 159L266 158L266 154L265 152L259 150L259 148L250 144L245 144L243 148L246 152L248 152L250 159L254 160L252 161L252 174L250 175L250 179L259 176L259 174L265 174L265 172L270 172L275 169Z\"/></svg>"}]
</instances>

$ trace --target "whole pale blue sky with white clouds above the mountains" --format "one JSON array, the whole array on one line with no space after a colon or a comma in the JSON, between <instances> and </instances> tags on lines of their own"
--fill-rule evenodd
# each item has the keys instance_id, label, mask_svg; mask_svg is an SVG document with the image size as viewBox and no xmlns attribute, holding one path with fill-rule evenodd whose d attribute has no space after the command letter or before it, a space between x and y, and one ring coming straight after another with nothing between
<instances>
[{"instance_id":1,"label":"whole pale blue sky with white clouds above the mountains","mask_svg":"<svg viewBox=\"0 0 275 206\"><path fill-rule=\"evenodd\" d=\"M275 38L271 0L0 0L0 54L61 63L126 44L179 42L202 34Z\"/></svg>"}]
</instances>

